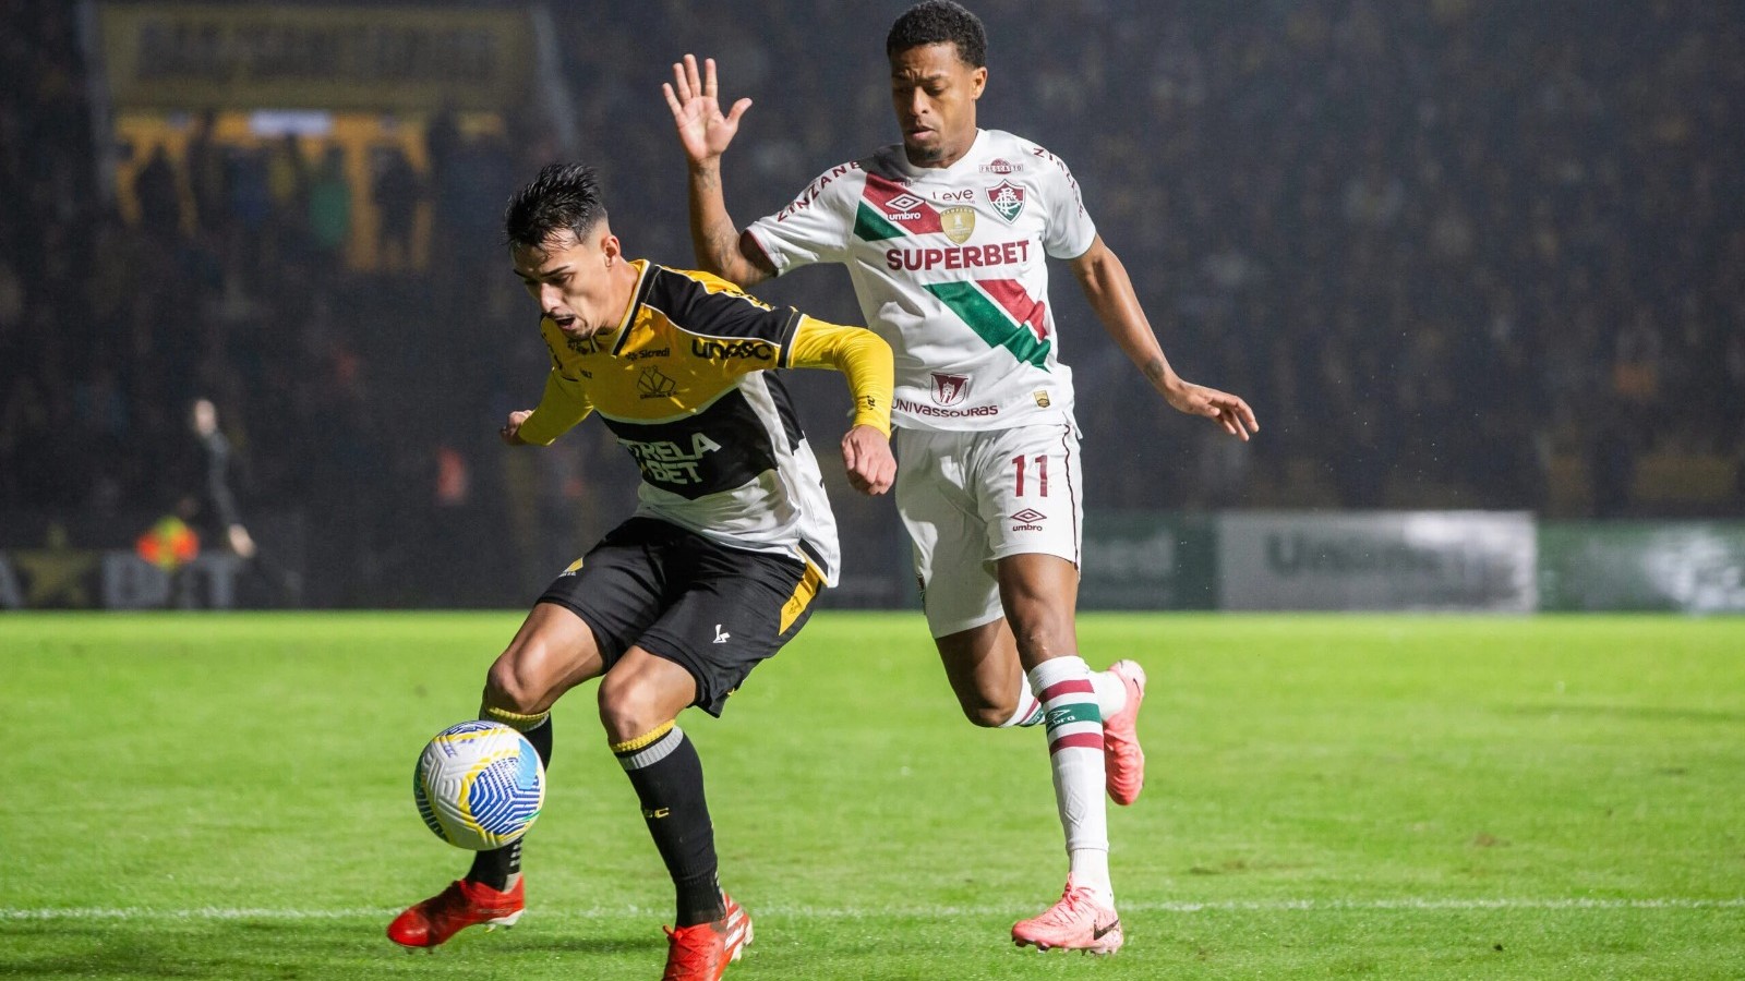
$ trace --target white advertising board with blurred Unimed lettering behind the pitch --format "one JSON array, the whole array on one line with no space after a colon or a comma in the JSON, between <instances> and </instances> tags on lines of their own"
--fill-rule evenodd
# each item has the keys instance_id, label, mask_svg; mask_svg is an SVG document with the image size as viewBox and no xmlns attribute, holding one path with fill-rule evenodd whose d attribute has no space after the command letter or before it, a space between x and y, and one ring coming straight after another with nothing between
<instances>
[{"instance_id":1,"label":"white advertising board with blurred Unimed lettering behind the pitch","mask_svg":"<svg viewBox=\"0 0 1745 981\"><path fill-rule=\"evenodd\" d=\"M1527 511L1218 517L1223 609L1532 613L1536 573Z\"/></svg>"}]
</instances>

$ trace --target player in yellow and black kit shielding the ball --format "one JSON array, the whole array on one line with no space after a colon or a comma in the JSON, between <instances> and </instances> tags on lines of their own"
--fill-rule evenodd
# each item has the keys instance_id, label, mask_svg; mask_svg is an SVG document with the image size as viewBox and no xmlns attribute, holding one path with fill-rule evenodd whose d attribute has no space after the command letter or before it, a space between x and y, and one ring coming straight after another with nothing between
<instances>
[{"instance_id":1,"label":"player in yellow and black kit shielding the ball","mask_svg":"<svg viewBox=\"0 0 1745 981\"><path fill-rule=\"evenodd\" d=\"M625 258L581 164L539 171L504 230L551 351L539 407L511 412L504 442L546 445L599 414L642 485L635 515L551 583L490 667L482 717L518 728L550 763L551 705L600 679L607 740L677 888L663 978L712 981L752 922L717 883L703 768L674 719L689 705L719 716L836 581L836 522L775 370L848 377L843 463L859 490L883 494L897 471L892 353L867 330L770 307L707 272ZM508 925L522 895L517 841L480 852L387 936L419 948Z\"/></svg>"}]
</instances>

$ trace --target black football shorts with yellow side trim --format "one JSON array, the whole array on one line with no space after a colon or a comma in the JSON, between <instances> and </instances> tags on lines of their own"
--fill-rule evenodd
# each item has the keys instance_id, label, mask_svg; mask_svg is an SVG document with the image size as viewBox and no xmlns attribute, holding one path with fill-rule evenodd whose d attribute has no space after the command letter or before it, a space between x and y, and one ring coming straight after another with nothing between
<instances>
[{"instance_id":1,"label":"black football shorts with yellow side trim","mask_svg":"<svg viewBox=\"0 0 1745 981\"><path fill-rule=\"evenodd\" d=\"M693 703L719 716L757 662L806 623L820 585L799 559L726 548L658 518L630 518L565 569L539 602L579 616L607 670L633 646L689 670Z\"/></svg>"}]
</instances>

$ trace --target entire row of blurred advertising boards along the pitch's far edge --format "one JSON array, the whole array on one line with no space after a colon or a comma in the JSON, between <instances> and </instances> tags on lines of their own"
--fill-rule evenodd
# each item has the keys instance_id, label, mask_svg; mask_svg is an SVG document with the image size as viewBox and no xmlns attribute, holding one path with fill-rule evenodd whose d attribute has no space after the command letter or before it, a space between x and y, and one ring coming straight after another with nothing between
<instances>
[{"instance_id":1,"label":"entire row of blurred advertising boards along the pitch's far edge","mask_svg":"<svg viewBox=\"0 0 1745 981\"><path fill-rule=\"evenodd\" d=\"M174 569L134 550L150 515L0 520L0 609L422 606L454 569L335 560L302 515L250 522L262 560L208 543ZM900 536L900 532L892 532ZM914 607L907 546L845 543L836 607ZM379 564L379 562L377 562ZM314 573L311 590L283 583ZM265 573L265 574L263 574ZM429 580L421 580L428 576ZM382 585L387 583L387 585ZM384 592L386 588L394 592ZM452 592L452 590L448 590ZM410 597L410 599L408 599ZM513 583L483 606L517 606ZM1080 609L1745 613L1745 522L1537 522L1525 511L1092 511Z\"/></svg>"}]
</instances>

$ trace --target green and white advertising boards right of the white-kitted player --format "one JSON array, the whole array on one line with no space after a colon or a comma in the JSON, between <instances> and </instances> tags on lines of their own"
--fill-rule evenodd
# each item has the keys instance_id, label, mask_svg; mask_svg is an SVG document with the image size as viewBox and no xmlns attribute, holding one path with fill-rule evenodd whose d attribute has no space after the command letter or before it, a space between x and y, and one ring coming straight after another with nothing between
<instances>
[{"instance_id":1,"label":"green and white advertising boards right of the white-kitted player","mask_svg":"<svg viewBox=\"0 0 1745 981\"><path fill-rule=\"evenodd\" d=\"M1078 606L1745 613L1745 522L1094 511Z\"/></svg>"}]
</instances>

